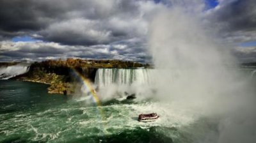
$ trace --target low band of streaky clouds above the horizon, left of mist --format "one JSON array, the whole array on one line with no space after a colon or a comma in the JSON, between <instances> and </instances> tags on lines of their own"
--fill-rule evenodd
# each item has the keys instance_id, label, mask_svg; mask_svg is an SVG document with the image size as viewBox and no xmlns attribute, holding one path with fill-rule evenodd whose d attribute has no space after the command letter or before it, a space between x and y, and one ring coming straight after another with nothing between
<instances>
[{"instance_id":1,"label":"low band of streaky clouds above the horizon, left of mist","mask_svg":"<svg viewBox=\"0 0 256 143\"><path fill-rule=\"evenodd\" d=\"M133 47L129 42L113 45L70 46L54 42L0 42L0 61L42 61L46 59L65 59L80 57L86 59L121 59L145 62L144 47ZM115 48L113 48L115 47ZM121 48L120 48L121 47Z\"/></svg>"}]
</instances>

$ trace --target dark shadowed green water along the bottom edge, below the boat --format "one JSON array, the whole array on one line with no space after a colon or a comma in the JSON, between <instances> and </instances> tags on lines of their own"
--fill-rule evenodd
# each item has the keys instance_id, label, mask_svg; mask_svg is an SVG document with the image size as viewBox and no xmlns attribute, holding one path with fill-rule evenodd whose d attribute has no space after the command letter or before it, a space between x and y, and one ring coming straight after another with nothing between
<instances>
[{"instance_id":1,"label":"dark shadowed green water along the bottom edge, below the boat","mask_svg":"<svg viewBox=\"0 0 256 143\"><path fill-rule=\"evenodd\" d=\"M92 135L92 136L80 136L74 138L68 137L65 138L65 142L102 142L102 143L117 143L117 142L122 142L122 143L128 143L128 142L150 142L150 143L158 143L158 142L163 142L163 143L172 143L173 139L172 137L168 137L167 135L164 135L163 130L171 130L172 132L176 132L175 129L172 128L162 128L159 126L152 126L150 128L140 128L136 127L134 129L126 129L123 130L122 132L111 134L111 135ZM2 140L3 142L33 142L31 140L26 140L23 137L13 136L9 139ZM41 142L44 142L43 140Z\"/></svg>"}]
</instances>

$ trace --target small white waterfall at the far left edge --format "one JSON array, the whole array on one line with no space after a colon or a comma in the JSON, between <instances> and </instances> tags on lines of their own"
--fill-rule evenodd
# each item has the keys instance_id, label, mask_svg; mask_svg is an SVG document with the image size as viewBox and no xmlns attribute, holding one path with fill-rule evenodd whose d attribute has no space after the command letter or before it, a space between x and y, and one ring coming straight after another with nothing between
<instances>
[{"instance_id":1,"label":"small white waterfall at the far left edge","mask_svg":"<svg viewBox=\"0 0 256 143\"><path fill-rule=\"evenodd\" d=\"M0 79L10 79L17 75L26 73L28 70L29 66L24 64L0 67Z\"/></svg>"}]
</instances>

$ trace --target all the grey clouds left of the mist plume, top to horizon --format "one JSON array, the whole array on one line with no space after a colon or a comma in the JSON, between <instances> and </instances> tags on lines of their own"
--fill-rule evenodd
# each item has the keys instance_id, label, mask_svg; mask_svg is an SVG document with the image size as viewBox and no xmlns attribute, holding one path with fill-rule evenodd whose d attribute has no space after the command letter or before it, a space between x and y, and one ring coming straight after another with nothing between
<instances>
[{"instance_id":1,"label":"all the grey clouds left of the mist plume, top to horizon","mask_svg":"<svg viewBox=\"0 0 256 143\"><path fill-rule=\"evenodd\" d=\"M0 61L60 57L143 61L148 22L163 8L148 0L3 0ZM8 41L15 36L42 41Z\"/></svg>"}]
</instances>

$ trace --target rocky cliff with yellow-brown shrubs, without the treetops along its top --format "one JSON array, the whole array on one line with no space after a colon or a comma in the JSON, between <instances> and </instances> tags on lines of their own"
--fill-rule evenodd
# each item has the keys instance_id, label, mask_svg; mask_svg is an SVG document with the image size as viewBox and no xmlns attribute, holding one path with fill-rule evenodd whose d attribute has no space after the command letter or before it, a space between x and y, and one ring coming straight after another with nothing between
<instances>
[{"instance_id":1,"label":"rocky cliff with yellow-brown shrubs, without the treetops along its top","mask_svg":"<svg viewBox=\"0 0 256 143\"><path fill-rule=\"evenodd\" d=\"M47 88L48 93L72 94L77 85L77 79L73 76L74 70L91 81L94 80L97 71L96 68L73 68L35 63L31 64L28 73L13 79L49 84L51 86Z\"/></svg>"}]
</instances>

